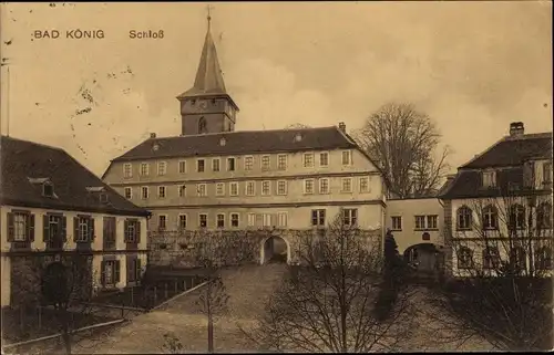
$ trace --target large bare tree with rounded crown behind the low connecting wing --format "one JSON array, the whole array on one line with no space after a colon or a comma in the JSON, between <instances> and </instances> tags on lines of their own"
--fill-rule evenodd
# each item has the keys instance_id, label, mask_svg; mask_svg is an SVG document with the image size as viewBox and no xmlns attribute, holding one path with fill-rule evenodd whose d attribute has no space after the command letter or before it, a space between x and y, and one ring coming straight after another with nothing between
<instances>
[{"instance_id":1,"label":"large bare tree with rounded crown behind the low connecting wing","mask_svg":"<svg viewBox=\"0 0 554 355\"><path fill-rule=\"evenodd\" d=\"M441 135L437 126L411 104L381 106L353 137L382 169L391 192L400 198L437 191L448 173L449 148L439 153Z\"/></svg>"}]
</instances>

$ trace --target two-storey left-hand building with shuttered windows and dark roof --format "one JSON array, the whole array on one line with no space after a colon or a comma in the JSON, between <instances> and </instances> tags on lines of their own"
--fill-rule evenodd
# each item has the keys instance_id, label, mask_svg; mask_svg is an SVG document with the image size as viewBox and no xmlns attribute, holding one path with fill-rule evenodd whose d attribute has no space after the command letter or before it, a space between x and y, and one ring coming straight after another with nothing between
<instances>
[{"instance_id":1,"label":"two-storey left-hand building with shuttered windows and dark roof","mask_svg":"<svg viewBox=\"0 0 554 355\"><path fill-rule=\"evenodd\" d=\"M145 209L60 148L2 136L0 152L2 306L39 290L41 275L29 273L76 253L90 262L91 290L140 280Z\"/></svg>"}]
</instances>

